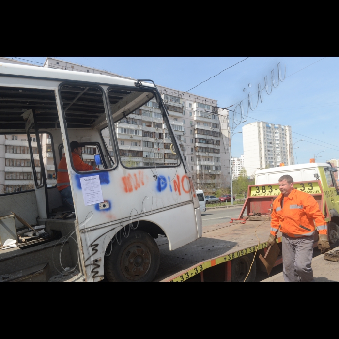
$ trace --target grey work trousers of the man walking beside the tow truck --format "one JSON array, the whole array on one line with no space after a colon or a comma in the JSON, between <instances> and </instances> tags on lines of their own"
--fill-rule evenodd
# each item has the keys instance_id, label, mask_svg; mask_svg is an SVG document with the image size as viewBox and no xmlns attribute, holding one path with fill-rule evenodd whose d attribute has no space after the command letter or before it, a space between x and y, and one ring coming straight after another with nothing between
<instances>
[{"instance_id":1,"label":"grey work trousers of the man walking beside the tow truck","mask_svg":"<svg viewBox=\"0 0 339 339\"><path fill-rule=\"evenodd\" d=\"M282 234L282 266L285 282L314 281L311 267L314 235L292 238Z\"/></svg>"}]
</instances>

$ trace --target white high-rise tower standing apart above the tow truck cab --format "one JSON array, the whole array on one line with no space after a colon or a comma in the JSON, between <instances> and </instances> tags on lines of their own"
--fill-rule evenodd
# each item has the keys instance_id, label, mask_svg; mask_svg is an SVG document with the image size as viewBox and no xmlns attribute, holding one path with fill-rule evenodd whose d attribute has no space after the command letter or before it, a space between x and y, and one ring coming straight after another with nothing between
<instances>
[{"instance_id":1,"label":"white high-rise tower standing apart above the tow truck cab","mask_svg":"<svg viewBox=\"0 0 339 339\"><path fill-rule=\"evenodd\" d=\"M260 169L278 167L280 163L294 164L291 126L247 123L243 126L243 142L248 176Z\"/></svg>"}]
</instances>

